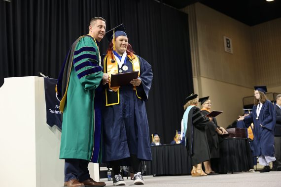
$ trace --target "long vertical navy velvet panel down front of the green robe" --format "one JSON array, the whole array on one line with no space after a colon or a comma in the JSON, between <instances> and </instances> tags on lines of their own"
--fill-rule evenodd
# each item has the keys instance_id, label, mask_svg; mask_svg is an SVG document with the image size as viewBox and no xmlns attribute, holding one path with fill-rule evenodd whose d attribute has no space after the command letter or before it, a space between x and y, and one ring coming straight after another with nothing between
<instances>
[{"instance_id":1,"label":"long vertical navy velvet panel down front of the green robe","mask_svg":"<svg viewBox=\"0 0 281 187\"><path fill-rule=\"evenodd\" d=\"M101 150L101 124L102 124L102 100L103 100L103 89L100 85L95 91L95 143L94 143L94 150L93 156L91 158L91 162L98 162L100 150Z\"/></svg>"}]
</instances>

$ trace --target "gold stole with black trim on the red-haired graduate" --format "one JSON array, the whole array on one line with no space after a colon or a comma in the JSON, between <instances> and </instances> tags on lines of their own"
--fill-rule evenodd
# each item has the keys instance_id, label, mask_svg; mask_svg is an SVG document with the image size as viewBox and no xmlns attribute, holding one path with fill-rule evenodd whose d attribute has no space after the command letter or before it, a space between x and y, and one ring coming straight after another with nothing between
<instances>
[{"instance_id":1,"label":"gold stole with black trim on the red-haired graduate","mask_svg":"<svg viewBox=\"0 0 281 187\"><path fill-rule=\"evenodd\" d=\"M139 58L134 54L127 55L127 58L132 63L133 71L139 71L138 76L140 76L140 60L139 60ZM112 61L112 60L114 60L114 61ZM115 59L115 56L113 55L112 51L108 51L105 58L104 58L104 72L107 73L109 77L111 77L111 74L118 73L118 63L117 63L117 61ZM109 89L114 91L115 94L108 91L107 88L105 89L105 106L119 104L119 102L120 102L120 100L119 100L119 88L120 88L120 86L111 87L110 82L108 83L108 86L109 86ZM140 98L140 96L138 96L136 86L134 86L134 90L136 91L137 97ZM115 101L110 102L109 99L108 99L109 95L110 95L110 97L111 96L116 97Z\"/></svg>"}]
</instances>

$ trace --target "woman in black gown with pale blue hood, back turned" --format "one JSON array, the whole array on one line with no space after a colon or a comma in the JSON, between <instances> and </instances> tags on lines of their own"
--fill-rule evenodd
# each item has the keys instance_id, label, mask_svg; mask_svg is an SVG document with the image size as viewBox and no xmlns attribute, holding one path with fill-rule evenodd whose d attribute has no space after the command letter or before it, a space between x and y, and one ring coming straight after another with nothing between
<instances>
[{"instance_id":1,"label":"woman in black gown with pale blue hood, back turned","mask_svg":"<svg viewBox=\"0 0 281 187\"><path fill-rule=\"evenodd\" d=\"M193 166L191 175L193 177L207 176L202 170L202 162L210 160L211 156L205 133L206 125L210 120L203 116L197 107L197 94L191 94L185 100L180 136L185 139L188 155L191 156Z\"/></svg>"}]
</instances>

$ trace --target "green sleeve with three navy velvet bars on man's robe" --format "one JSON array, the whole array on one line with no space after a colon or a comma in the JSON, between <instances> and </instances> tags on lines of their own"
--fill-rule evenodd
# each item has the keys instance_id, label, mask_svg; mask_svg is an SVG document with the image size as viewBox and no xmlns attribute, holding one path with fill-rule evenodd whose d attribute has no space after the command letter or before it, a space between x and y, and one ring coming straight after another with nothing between
<instances>
[{"instance_id":1,"label":"green sleeve with three navy velvet bars on man's robe","mask_svg":"<svg viewBox=\"0 0 281 187\"><path fill-rule=\"evenodd\" d=\"M103 68L99 64L99 51L90 37L82 37L73 54L75 73L85 90L96 89L103 78Z\"/></svg>"}]
</instances>

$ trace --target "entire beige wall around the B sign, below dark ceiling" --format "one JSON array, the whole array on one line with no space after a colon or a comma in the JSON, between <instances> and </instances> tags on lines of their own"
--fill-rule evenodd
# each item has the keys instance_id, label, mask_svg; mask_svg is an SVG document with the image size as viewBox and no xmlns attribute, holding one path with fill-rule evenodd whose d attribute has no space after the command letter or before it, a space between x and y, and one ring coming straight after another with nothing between
<instances>
[{"instance_id":1,"label":"entire beige wall around the B sign, below dark ceiling","mask_svg":"<svg viewBox=\"0 0 281 187\"><path fill-rule=\"evenodd\" d=\"M210 95L218 123L230 125L253 86L281 92L281 19L249 27L201 3L182 9L189 15L194 92ZM224 52L223 36L232 39L233 54Z\"/></svg>"}]
</instances>

